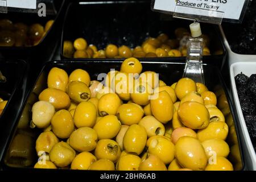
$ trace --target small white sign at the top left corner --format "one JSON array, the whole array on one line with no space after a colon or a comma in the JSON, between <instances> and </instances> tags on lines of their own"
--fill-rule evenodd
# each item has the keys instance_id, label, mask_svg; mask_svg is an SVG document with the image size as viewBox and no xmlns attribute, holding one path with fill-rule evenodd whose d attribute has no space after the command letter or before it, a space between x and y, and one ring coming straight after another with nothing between
<instances>
[{"instance_id":1,"label":"small white sign at the top left corner","mask_svg":"<svg viewBox=\"0 0 256 182\"><path fill-rule=\"evenodd\" d=\"M36 0L7 0L7 7L36 9Z\"/></svg>"}]
</instances>

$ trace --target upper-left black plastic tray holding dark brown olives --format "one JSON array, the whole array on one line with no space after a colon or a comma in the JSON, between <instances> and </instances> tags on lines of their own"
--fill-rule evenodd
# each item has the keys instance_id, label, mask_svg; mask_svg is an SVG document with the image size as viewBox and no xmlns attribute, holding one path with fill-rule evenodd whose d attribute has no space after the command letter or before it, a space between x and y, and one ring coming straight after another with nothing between
<instances>
[{"instance_id":1,"label":"upper-left black plastic tray holding dark brown olives","mask_svg":"<svg viewBox=\"0 0 256 182\"><path fill-rule=\"evenodd\" d=\"M40 43L36 46L31 47L0 47L0 57L3 58L14 58L14 59L24 59L28 60L30 57L33 57L33 53L35 53L40 59L40 52L44 51L44 55L52 55L53 48L56 47L56 43L60 40L61 34L61 26L63 23L63 16L65 7L67 7L67 2L64 1L48 1L49 3L53 3L55 6L56 14L46 14L46 16L39 17L37 13L23 13L19 11L9 11L7 14L1 14L1 19L10 19L14 23L22 22L28 25L33 23L40 23L44 26L46 22L50 19L55 20L52 24L50 30L46 33ZM42 55L42 57L44 57Z\"/></svg>"}]
</instances>

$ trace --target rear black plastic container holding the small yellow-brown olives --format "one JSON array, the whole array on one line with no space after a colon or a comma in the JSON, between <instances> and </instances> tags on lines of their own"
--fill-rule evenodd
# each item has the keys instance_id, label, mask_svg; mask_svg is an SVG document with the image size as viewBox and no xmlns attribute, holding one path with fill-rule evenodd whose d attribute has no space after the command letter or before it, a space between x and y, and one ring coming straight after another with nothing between
<instances>
[{"instance_id":1,"label":"rear black plastic container holding the small yellow-brown olives","mask_svg":"<svg viewBox=\"0 0 256 182\"><path fill-rule=\"evenodd\" d=\"M73 2L69 4L65 15L61 37L61 59L68 59L63 55L64 40L74 41L82 37L88 44L94 44L98 49L103 49L110 43L134 48L140 46L147 37L156 37L162 32L170 38L175 38L175 29L178 27L189 29L190 23L173 19L168 14L151 11L150 1ZM222 52L220 55L204 56L204 63L222 68L226 59L226 49L218 27L202 23L201 28L211 39L210 51ZM185 57L164 57L155 60L184 62Z\"/></svg>"}]
</instances>

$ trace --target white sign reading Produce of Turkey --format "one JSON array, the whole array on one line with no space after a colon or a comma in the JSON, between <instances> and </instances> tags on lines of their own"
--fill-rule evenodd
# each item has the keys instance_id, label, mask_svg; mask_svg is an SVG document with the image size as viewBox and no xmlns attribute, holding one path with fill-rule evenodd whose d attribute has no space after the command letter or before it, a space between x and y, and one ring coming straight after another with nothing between
<instances>
[{"instance_id":1,"label":"white sign reading Produce of Turkey","mask_svg":"<svg viewBox=\"0 0 256 182\"><path fill-rule=\"evenodd\" d=\"M156 11L240 20L248 0L153 0Z\"/></svg>"}]
</instances>

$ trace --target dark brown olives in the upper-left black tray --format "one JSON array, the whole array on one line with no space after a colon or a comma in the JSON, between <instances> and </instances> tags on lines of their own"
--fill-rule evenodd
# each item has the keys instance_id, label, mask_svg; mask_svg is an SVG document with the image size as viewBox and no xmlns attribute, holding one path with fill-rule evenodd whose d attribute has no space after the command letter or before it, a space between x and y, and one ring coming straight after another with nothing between
<instances>
[{"instance_id":1,"label":"dark brown olives in the upper-left black tray","mask_svg":"<svg viewBox=\"0 0 256 182\"><path fill-rule=\"evenodd\" d=\"M0 20L0 46L36 46L51 28L53 20L48 20L43 27L35 23L28 26L24 23L13 23L9 19Z\"/></svg>"}]
</instances>

